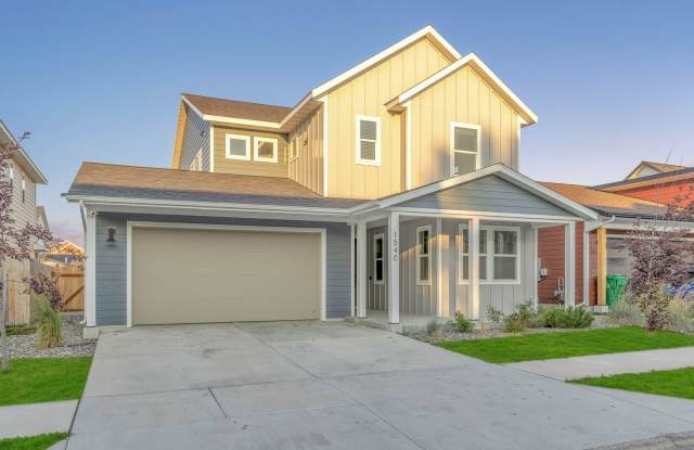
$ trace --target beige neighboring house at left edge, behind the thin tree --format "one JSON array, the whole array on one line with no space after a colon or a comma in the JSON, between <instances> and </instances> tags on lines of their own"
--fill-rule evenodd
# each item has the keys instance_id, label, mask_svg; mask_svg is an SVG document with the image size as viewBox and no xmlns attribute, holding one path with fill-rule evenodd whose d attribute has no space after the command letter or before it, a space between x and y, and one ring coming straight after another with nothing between
<instances>
[{"instance_id":1,"label":"beige neighboring house at left edge, behind the thin tree","mask_svg":"<svg viewBox=\"0 0 694 450\"><path fill-rule=\"evenodd\" d=\"M0 120L0 142L17 143L2 120ZM17 228L27 223L48 226L43 208L36 205L36 185L48 184L48 180L22 146L12 156L7 171L12 180L11 208L15 220L14 226ZM36 243L35 249L44 250L44 247L41 243Z\"/></svg>"}]
</instances>

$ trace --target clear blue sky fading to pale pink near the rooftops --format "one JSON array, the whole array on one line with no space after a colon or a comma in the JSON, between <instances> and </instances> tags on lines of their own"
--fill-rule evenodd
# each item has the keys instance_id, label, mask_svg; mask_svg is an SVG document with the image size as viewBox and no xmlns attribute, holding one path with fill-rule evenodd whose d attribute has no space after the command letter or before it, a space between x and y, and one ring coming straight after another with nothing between
<instances>
[{"instance_id":1,"label":"clear blue sky fading to pale pink near the rooftops","mask_svg":"<svg viewBox=\"0 0 694 450\"><path fill-rule=\"evenodd\" d=\"M5 1L3 1L5 3ZM0 119L61 194L82 160L169 167L179 94L293 106L426 24L538 115L520 171L597 184L640 160L694 164L694 1L7 1Z\"/></svg>"}]
</instances>

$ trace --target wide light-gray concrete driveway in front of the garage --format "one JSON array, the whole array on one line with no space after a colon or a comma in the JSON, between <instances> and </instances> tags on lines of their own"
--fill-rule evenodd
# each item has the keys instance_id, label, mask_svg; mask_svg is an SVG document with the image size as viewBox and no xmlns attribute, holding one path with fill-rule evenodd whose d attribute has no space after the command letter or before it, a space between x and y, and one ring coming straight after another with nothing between
<instances>
[{"instance_id":1,"label":"wide light-gray concrete driveway in front of the garage","mask_svg":"<svg viewBox=\"0 0 694 450\"><path fill-rule=\"evenodd\" d=\"M342 322L142 326L102 334L67 448L578 449L694 429L694 402L656 400Z\"/></svg>"}]
</instances>

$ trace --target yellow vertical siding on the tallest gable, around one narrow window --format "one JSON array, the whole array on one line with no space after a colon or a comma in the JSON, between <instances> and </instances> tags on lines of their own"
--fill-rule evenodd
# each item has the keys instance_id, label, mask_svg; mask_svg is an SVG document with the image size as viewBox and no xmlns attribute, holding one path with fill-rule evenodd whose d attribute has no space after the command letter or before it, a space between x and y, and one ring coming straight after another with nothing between
<instances>
[{"instance_id":1,"label":"yellow vertical siding on the tallest gable, around one narrow window","mask_svg":"<svg viewBox=\"0 0 694 450\"><path fill-rule=\"evenodd\" d=\"M402 191L402 117L385 104L450 63L428 39L421 39L326 95L329 196L375 198ZM356 162L359 114L381 118L380 166Z\"/></svg>"}]
</instances>

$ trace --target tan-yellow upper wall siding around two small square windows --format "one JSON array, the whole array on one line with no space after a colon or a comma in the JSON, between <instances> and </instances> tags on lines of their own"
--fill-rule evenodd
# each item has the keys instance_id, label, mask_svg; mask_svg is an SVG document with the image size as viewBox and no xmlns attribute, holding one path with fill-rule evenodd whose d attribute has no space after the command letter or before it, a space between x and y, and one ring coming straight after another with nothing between
<instances>
[{"instance_id":1,"label":"tan-yellow upper wall siding around two small square windows","mask_svg":"<svg viewBox=\"0 0 694 450\"><path fill-rule=\"evenodd\" d=\"M237 127L213 124L214 129L214 155L215 172L253 175L262 177L287 178L288 143L284 133L249 130ZM227 157L227 134L250 137L250 160L232 159ZM259 162L254 158L255 138L271 138L278 140L278 162Z\"/></svg>"}]
</instances>

